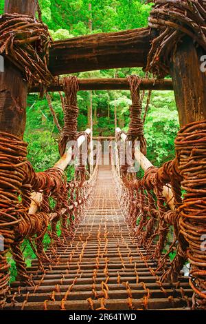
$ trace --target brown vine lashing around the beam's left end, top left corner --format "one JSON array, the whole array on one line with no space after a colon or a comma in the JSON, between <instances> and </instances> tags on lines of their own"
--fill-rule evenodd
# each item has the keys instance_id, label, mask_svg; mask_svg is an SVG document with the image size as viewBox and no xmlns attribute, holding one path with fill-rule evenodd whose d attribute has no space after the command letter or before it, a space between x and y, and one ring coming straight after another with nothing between
<instances>
[{"instance_id":1,"label":"brown vine lashing around the beam's left end, top left corner","mask_svg":"<svg viewBox=\"0 0 206 324\"><path fill-rule=\"evenodd\" d=\"M25 74L29 83L49 85L54 79L47 68L52 39L44 23L23 14L0 17L0 54L5 54Z\"/></svg>"}]
</instances>

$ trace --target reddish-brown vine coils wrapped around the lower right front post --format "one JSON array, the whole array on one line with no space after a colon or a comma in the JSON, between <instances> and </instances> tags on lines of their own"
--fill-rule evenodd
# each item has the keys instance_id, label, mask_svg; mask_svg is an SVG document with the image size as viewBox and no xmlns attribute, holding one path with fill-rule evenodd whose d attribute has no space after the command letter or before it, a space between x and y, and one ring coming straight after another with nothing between
<instances>
[{"instance_id":1,"label":"reddish-brown vine coils wrapped around the lower right front post","mask_svg":"<svg viewBox=\"0 0 206 324\"><path fill-rule=\"evenodd\" d=\"M206 305L206 121L183 127L175 141L181 182L186 191L179 207L180 232L188 243L190 284L196 293L199 307Z\"/></svg>"}]
</instances>

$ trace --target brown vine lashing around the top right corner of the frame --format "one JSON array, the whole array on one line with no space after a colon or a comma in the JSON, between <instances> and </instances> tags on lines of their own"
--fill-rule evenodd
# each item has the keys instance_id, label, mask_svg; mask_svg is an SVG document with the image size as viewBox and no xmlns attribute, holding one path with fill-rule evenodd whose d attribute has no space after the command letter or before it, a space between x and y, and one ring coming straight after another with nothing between
<instances>
[{"instance_id":1,"label":"brown vine lashing around the top right corner of the frame","mask_svg":"<svg viewBox=\"0 0 206 324\"><path fill-rule=\"evenodd\" d=\"M149 26L159 33L152 41L146 70L165 77L169 74L171 53L187 35L206 50L206 1L155 0Z\"/></svg>"}]
</instances>

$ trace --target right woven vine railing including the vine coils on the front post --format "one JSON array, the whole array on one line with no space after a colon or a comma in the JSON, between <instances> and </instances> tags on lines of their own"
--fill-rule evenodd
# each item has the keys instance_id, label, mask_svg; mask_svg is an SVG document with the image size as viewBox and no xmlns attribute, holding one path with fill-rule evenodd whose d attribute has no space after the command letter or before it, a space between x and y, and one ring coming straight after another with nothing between
<instances>
[{"instance_id":1,"label":"right woven vine railing including the vine coils on the front post","mask_svg":"<svg viewBox=\"0 0 206 324\"><path fill-rule=\"evenodd\" d=\"M146 248L147 264L157 260L157 269L150 270L161 284L178 283L185 263L190 262L190 285L194 290L193 307L205 308L205 143L206 121L182 128L176 138L176 158L161 168L149 166L142 179L128 181L121 172L121 152L116 150L113 178L119 203L139 247ZM141 163L140 163L141 164ZM165 199L165 187L172 190ZM171 209L171 205L174 205ZM176 256L172 261L170 253ZM161 271L162 275L157 276Z\"/></svg>"}]
</instances>

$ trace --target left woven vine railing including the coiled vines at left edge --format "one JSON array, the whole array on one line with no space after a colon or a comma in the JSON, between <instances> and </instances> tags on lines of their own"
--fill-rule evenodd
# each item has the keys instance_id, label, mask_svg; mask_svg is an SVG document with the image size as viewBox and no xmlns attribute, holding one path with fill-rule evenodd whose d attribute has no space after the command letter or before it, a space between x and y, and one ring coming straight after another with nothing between
<instances>
[{"instance_id":1,"label":"left woven vine railing including the coiled vines at left edge","mask_svg":"<svg viewBox=\"0 0 206 324\"><path fill-rule=\"evenodd\" d=\"M87 133L79 134L83 135L86 140ZM84 217L85 207L91 203L98 173L98 162L89 179L86 174L67 182L65 172L58 168L36 173L30 162L25 159L26 146L15 136L1 133L1 148L4 154L1 154L0 233L5 245L5 249L0 252L1 303L9 290L10 274L6 260L9 248L16 263L19 280L23 284L33 285L32 277L27 274L22 243L25 239L30 241L41 271L45 272L45 265L58 262L56 248L72 239L75 228ZM80 161L78 172L87 173L85 165L82 167ZM19 196L16 196L18 185ZM36 207L36 213L30 214L33 192L40 193L42 199ZM45 234L50 239L50 254L45 253Z\"/></svg>"}]
</instances>

